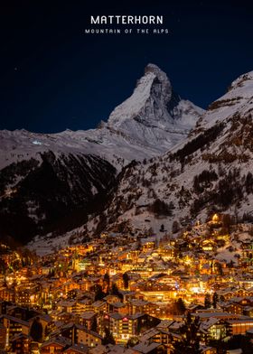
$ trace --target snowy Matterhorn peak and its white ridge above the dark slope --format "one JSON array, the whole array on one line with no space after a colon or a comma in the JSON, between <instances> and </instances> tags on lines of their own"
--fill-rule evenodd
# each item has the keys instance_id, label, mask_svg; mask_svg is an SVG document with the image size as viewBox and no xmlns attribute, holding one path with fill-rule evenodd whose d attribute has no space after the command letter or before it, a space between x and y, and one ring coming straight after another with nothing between
<instances>
[{"instance_id":1,"label":"snowy Matterhorn peak and its white ridge above the dark slope","mask_svg":"<svg viewBox=\"0 0 253 354\"><path fill-rule=\"evenodd\" d=\"M98 154L116 166L141 161L164 153L185 138L203 112L175 95L166 74L149 64L133 95L97 129L59 134L0 131L0 168L49 150L54 154Z\"/></svg>"}]
</instances>

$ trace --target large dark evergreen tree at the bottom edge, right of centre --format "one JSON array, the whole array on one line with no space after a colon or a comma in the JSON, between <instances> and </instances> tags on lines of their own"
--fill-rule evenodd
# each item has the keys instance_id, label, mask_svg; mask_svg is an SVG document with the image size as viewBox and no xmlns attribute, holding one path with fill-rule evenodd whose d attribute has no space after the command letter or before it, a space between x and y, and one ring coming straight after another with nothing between
<instances>
[{"instance_id":1,"label":"large dark evergreen tree at the bottom edge, right of centre","mask_svg":"<svg viewBox=\"0 0 253 354\"><path fill-rule=\"evenodd\" d=\"M180 328L181 340L176 340L173 343L173 354L201 354L198 333L200 325L199 317L192 318L191 313L188 312L183 326Z\"/></svg>"}]
</instances>

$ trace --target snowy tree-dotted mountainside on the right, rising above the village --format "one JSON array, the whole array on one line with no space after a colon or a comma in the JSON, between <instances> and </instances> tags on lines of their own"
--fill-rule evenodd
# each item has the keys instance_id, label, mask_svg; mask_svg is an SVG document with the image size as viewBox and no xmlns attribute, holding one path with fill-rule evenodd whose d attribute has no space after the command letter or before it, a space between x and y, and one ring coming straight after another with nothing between
<instances>
[{"instance_id":1,"label":"snowy tree-dotted mountainside on the right, rising above the village","mask_svg":"<svg viewBox=\"0 0 253 354\"><path fill-rule=\"evenodd\" d=\"M253 71L241 75L198 120L188 138L117 176L108 204L88 224L159 234L213 212L253 219ZM162 226L163 225L163 226Z\"/></svg>"}]
</instances>

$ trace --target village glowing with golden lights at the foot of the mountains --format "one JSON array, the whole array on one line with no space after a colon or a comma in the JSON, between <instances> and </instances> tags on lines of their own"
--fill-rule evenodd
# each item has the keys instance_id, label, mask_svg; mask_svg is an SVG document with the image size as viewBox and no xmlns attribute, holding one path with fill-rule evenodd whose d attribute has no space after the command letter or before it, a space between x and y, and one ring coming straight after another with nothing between
<instances>
[{"instance_id":1,"label":"village glowing with golden lights at the foot of the mountains","mask_svg":"<svg viewBox=\"0 0 253 354\"><path fill-rule=\"evenodd\" d=\"M173 354L190 328L200 353L250 352L252 224L213 214L176 236L161 229L46 256L2 244L0 352Z\"/></svg>"}]
</instances>

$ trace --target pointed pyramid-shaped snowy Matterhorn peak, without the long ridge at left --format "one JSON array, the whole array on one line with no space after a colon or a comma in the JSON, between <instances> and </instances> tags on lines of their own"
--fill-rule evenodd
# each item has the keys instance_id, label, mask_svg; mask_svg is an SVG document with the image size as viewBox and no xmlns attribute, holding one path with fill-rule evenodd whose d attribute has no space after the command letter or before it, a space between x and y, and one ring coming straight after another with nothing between
<instances>
[{"instance_id":1,"label":"pointed pyramid-shaped snowy Matterhorn peak, without the long ridge at left","mask_svg":"<svg viewBox=\"0 0 253 354\"><path fill-rule=\"evenodd\" d=\"M182 141L203 113L175 94L166 74L149 64L133 95L109 116L107 127L161 154Z\"/></svg>"}]
</instances>

